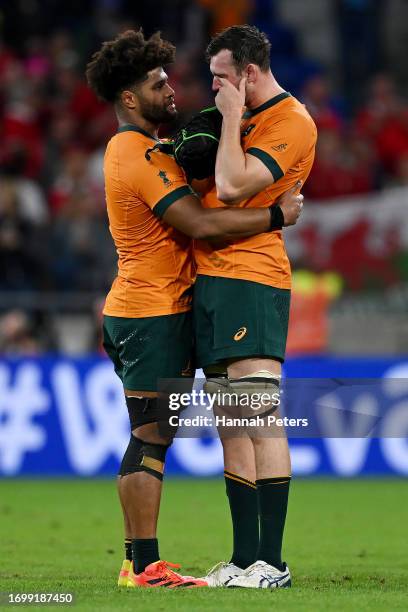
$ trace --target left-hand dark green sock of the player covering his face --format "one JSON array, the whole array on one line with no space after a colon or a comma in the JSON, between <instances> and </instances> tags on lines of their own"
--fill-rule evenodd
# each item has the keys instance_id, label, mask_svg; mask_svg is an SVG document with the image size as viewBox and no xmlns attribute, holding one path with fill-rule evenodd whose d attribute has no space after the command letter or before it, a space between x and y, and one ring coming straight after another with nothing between
<instances>
[{"instance_id":1,"label":"left-hand dark green sock of the player covering his face","mask_svg":"<svg viewBox=\"0 0 408 612\"><path fill-rule=\"evenodd\" d=\"M224 472L230 504L234 548L231 563L242 569L256 561L259 543L258 503L255 483Z\"/></svg>"}]
</instances>

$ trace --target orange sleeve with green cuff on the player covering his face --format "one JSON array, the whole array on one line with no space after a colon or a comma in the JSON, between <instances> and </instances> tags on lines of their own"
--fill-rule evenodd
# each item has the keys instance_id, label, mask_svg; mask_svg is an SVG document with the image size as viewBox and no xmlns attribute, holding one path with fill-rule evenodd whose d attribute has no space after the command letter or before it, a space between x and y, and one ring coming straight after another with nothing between
<instances>
[{"instance_id":1,"label":"orange sleeve with green cuff on the player covering his face","mask_svg":"<svg viewBox=\"0 0 408 612\"><path fill-rule=\"evenodd\" d=\"M308 139L309 130L303 121L293 116L284 118L260 131L246 153L265 164L276 182L299 162L305 136Z\"/></svg>"}]
</instances>

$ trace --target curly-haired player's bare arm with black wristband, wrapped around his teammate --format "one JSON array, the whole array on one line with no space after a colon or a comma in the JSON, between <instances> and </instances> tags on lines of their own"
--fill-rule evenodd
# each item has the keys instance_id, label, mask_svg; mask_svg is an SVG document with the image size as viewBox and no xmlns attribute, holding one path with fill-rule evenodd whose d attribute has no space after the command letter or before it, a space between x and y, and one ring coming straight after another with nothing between
<instances>
[{"instance_id":1,"label":"curly-haired player's bare arm with black wristband, wrapped around his teammate","mask_svg":"<svg viewBox=\"0 0 408 612\"><path fill-rule=\"evenodd\" d=\"M294 194L297 188L271 208L203 208L196 196L185 195L165 210L162 219L196 239L253 236L296 223L303 202L303 196Z\"/></svg>"}]
</instances>

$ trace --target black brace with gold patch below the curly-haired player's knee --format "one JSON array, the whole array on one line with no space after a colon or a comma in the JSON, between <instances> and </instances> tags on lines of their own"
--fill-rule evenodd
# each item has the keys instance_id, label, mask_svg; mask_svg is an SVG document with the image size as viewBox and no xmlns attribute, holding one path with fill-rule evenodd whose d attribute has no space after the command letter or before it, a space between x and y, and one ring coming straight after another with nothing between
<instances>
[{"instance_id":1,"label":"black brace with gold patch below the curly-haired player's knee","mask_svg":"<svg viewBox=\"0 0 408 612\"><path fill-rule=\"evenodd\" d=\"M135 472L147 472L151 476L163 480L164 462L167 449L171 444L153 444L130 436L130 441L123 456L119 476Z\"/></svg>"}]
</instances>

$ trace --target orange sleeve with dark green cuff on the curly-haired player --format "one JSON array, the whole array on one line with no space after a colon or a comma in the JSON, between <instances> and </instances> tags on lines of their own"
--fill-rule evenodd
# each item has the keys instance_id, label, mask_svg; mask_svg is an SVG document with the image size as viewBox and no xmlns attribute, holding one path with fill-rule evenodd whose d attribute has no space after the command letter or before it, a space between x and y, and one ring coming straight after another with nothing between
<instances>
[{"instance_id":1,"label":"orange sleeve with dark green cuff on the curly-haired player","mask_svg":"<svg viewBox=\"0 0 408 612\"><path fill-rule=\"evenodd\" d=\"M162 152L152 153L150 160L140 160L138 178L138 195L157 217L180 198L194 194L180 166Z\"/></svg>"}]
</instances>

